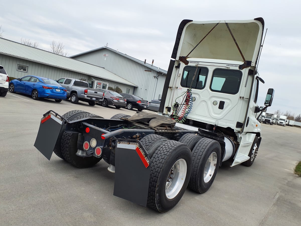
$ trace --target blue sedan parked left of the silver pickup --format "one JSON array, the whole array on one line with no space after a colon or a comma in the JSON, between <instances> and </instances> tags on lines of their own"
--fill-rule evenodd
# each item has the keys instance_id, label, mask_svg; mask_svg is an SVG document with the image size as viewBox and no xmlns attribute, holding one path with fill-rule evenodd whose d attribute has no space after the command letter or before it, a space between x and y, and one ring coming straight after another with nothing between
<instances>
[{"instance_id":1,"label":"blue sedan parked left of the silver pickup","mask_svg":"<svg viewBox=\"0 0 301 226\"><path fill-rule=\"evenodd\" d=\"M54 99L61 102L67 98L67 90L56 81L39 76L28 75L11 80L9 92L19 92L31 95L34 100L39 98Z\"/></svg>"}]
</instances>

